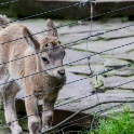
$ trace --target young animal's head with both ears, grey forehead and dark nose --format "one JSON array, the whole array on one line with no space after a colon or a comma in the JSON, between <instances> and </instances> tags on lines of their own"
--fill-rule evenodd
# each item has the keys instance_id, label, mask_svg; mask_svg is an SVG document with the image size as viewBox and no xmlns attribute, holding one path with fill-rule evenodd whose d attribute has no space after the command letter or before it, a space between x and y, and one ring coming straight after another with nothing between
<instances>
[{"instance_id":1,"label":"young animal's head with both ears, grey forehead and dark nose","mask_svg":"<svg viewBox=\"0 0 134 134\"><path fill-rule=\"evenodd\" d=\"M30 36L31 32L26 28L24 34L29 46L38 54L41 66L50 76L62 79L65 77L63 67L63 58L65 50L61 45L57 30L51 19L46 22L48 36L39 43L36 37ZM28 36L28 37L27 37Z\"/></svg>"}]
</instances>

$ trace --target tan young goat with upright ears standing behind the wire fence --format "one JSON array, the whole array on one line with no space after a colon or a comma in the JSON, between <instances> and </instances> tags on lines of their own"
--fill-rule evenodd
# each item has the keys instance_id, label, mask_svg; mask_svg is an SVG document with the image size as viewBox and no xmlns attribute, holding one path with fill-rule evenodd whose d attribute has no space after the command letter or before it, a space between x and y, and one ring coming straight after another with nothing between
<instances>
[{"instance_id":1,"label":"tan young goat with upright ears standing behind the wire fence","mask_svg":"<svg viewBox=\"0 0 134 134\"><path fill-rule=\"evenodd\" d=\"M38 99L43 99L43 110L49 109L42 113L42 131L52 126L54 104L58 91L62 89L59 85L66 82L63 67L65 50L61 45L57 30L51 19L46 21L46 27L52 30L49 30L48 36L41 41L38 41L37 37L32 36L32 32L26 26L21 24L9 25L6 16L0 15L0 43L25 38L0 45L0 64L31 54L32 56L0 65L0 83L9 82L0 86L0 93L4 102L5 120L13 134L22 134L22 128L15 121L17 120L15 103L6 102L14 99L16 93L22 89L25 90L25 95L37 93L37 95L25 99L27 116L29 116L29 132L30 134L37 134L41 123L38 116ZM42 72L23 78L39 71ZM18 78L23 79L10 82ZM54 86L58 88L53 89ZM52 90L48 91L48 89Z\"/></svg>"}]
</instances>

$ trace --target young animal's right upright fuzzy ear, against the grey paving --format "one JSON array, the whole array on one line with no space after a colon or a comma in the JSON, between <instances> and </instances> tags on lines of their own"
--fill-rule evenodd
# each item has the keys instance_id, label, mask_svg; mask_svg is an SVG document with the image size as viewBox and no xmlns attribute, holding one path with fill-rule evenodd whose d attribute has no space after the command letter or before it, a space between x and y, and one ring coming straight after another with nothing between
<instances>
[{"instance_id":1,"label":"young animal's right upright fuzzy ear, against the grey paving","mask_svg":"<svg viewBox=\"0 0 134 134\"><path fill-rule=\"evenodd\" d=\"M50 18L46 21L46 29L48 29L48 36L58 37L56 27Z\"/></svg>"}]
</instances>

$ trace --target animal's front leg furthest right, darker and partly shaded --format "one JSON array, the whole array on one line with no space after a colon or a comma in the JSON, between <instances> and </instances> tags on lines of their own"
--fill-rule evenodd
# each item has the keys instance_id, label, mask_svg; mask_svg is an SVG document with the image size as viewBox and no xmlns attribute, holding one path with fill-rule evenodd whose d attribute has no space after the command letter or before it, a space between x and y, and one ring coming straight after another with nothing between
<instances>
[{"instance_id":1,"label":"animal's front leg furthest right, darker and partly shaded","mask_svg":"<svg viewBox=\"0 0 134 134\"><path fill-rule=\"evenodd\" d=\"M56 98L53 100L43 99L42 132L52 126L55 100Z\"/></svg>"}]
</instances>

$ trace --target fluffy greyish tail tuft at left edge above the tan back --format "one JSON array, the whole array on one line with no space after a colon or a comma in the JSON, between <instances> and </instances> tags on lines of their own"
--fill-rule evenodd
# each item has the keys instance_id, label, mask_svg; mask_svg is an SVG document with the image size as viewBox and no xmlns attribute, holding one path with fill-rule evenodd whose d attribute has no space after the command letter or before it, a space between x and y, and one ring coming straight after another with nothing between
<instances>
[{"instance_id":1,"label":"fluffy greyish tail tuft at left edge above the tan back","mask_svg":"<svg viewBox=\"0 0 134 134\"><path fill-rule=\"evenodd\" d=\"M6 17L6 15L0 15L0 28L5 28L9 26L10 19Z\"/></svg>"}]
</instances>

